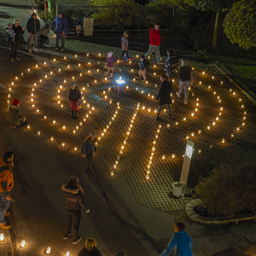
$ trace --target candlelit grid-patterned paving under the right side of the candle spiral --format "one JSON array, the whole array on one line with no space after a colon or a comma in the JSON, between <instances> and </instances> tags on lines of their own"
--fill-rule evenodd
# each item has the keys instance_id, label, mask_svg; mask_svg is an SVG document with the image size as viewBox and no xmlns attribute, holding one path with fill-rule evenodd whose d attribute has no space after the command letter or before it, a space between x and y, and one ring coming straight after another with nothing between
<instances>
[{"instance_id":1,"label":"candlelit grid-patterned paving under the right side of the candle spiral","mask_svg":"<svg viewBox=\"0 0 256 256\"><path fill-rule=\"evenodd\" d=\"M147 68L148 84L146 84L144 81L133 81L139 65L139 59L136 56L142 55L141 52L130 51L134 57L130 64L129 62L116 62L120 55L120 49L117 48L79 41L68 41L67 47L78 55L78 58L75 58L73 54L73 65L77 69L77 73L87 73L82 78L84 84L90 84L86 91L86 97L98 109L97 114L102 126L108 124L109 115L111 115L108 112L108 99L113 99L113 105L120 102L119 118L113 123L113 131L107 135L113 152L117 155L119 155L120 146L125 140L125 131L128 130L132 114L137 103L140 102L141 108L137 113L124 154L121 155L116 170L116 172L125 173L139 204L159 208L166 212L179 210L189 201L189 198L171 199L168 196L172 191L172 183L178 181L180 177L186 136L195 142L195 153L189 171L189 187L194 187L200 177L207 177L212 168L221 163L236 166L244 161L255 160L256 154L253 144L255 144L256 131L253 113L245 114L246 109L241 108L241 105L246 102L245 96L235 86L227 84L220 73L208 73L207 65L190 61L190 65L195 67L198 81L189 90L187 105L183 104L183 95L181 98L177 98L175 95L175 91L178 90L178 80L177 74L174 73L172 113L175 119L168 119L167 112L162 112L160 116L164 120L158 122L155 119L154 109L158 108L159 103L155 102L154 99L160 90L159 78L160 74L164 73L163 66L154 67L152 65ZM109 50L113 51L115 58L114 73L113 79L105 81L102 73ZM78 63L82 61L84 65L79 68ZM155 63L154 55L151 55L149 61ZM91 64L89 65L88 62ZM88 74L89 69L90 74ZM96 72L97 69L100 70L98 73ZM133 73L131 69L134 70ZM155 76L154 73L156 73ZM118 96L117 92L113 91L114 80L118 79L119 76L122 76L129 85L126 95L120 92ZM97 80L96 83L94 83L95 79ZM111 87L111 91L108 91L108 87ZM104 99L103 90L108 95L107 100ZM235 96L233 92L236 92ZM152 95L154 95L154 99L151 98ZM195 105L197 98L199 98L198 107ZM145 110L142 109L143 106L145 106ZM195 112L196 107L198 108L197 112ZM221 107L223 108L222 111L220 110ZM151 108L150 112L148 112L148 108ZM195 113L195 116L192 117L191 113ZM183 121L184 117L186 121ZM217 117L219 118L218 121L216 120ZM216 125L212 125L213 121L216 122ZM242 126L243 122L245 122L245 126ZM159 138L156 140L149 180L146 180L152 142L160 124L162 128ZM167 128L167 124L170 124L169 128ZM210 130L207 129L208 125L210 125ZM239 131L236 131L237 127L240 128ZM198 134L199 130L201 130L201 134ZM191 137L192 132L195 133L194 137ZM231 137L232 133L234 134L233 138ZM224 144L222 143L223 138ZM201 154L199 149L201 149ZM174 159L172 159L172 154L175 154ZM166 160L162 160L162 155L166 155ZM111 170L109 170L110 172Z\"/></svg>"}]
</instances>

